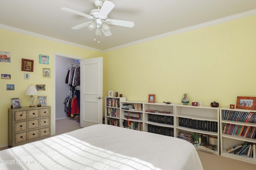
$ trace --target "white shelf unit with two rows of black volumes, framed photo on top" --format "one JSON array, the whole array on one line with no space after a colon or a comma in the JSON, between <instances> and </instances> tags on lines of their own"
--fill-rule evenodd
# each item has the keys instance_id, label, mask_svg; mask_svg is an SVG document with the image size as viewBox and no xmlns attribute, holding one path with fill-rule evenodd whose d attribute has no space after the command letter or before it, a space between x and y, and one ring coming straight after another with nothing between
<instances>
[{"instance_id":1,"label":"white shelf unit with two rows of black volumes, framed photo on top","mask_svg":"<svg viewBox=\"0 0 256 170\"><path fill-rule=\"evenodd\" d=\"M174 106L175 104L144 103L144 131L174 137ZM152 112L154 110L158 112Z\"/></svg>"}]
</instances>

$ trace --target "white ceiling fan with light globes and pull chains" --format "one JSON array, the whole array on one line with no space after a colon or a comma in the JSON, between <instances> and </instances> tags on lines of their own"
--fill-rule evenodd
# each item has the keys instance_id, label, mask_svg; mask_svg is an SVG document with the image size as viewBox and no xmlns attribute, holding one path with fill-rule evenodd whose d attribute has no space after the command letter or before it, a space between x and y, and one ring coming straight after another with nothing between
<instances>
[{"instance_id":1,"label":"white ceiling fan with light globes and pull chains","mask_svg":"<svg viewBox=\"0 0 256 170\"><path fill-rule=\"evenodd\" d=\"M110 36L112 33L110 32L110 27L108 24L111 25L119 25L123 27L133 27L134 23L132 21L123 21L123 20L112 20L108 18L108 14L114 8L114 4L108 0L105 0L104 3L102 0L95 0L94 4L97 9L91 10L90 15L84 14L82 12L78 12L75 10L71 10L68 8L61 8L61 10L66 12L71 12L73 14L77 14L80 16L84 16L92 21L81 23L72 27L72 29L80 29L82 27L88 26L91 31L95 31L95 35L100 35L101 31L104 33L105 36ZM94 41L96 39L94 38ZM98 41L99 42L99 41Z\"/></svg>"}]
</instances>

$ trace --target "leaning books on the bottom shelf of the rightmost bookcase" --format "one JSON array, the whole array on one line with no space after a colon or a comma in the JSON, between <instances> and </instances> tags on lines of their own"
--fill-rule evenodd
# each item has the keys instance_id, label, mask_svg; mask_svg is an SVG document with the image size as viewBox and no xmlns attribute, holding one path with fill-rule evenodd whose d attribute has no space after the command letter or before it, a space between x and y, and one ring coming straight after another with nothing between
<instances>
[{"instance_id":1,"label":"leaning books on the bottom shelf of the rightmost bookcase","mask_svg":"<svg viewBox=\"0 0 256 170\"><path fill-rule=\"evenodd\" d=\"M239 155L246 154L250 158L256 158L256 144L245 141L242 144L228 148L227 152L234 152L234 154Z\"/></svg>"}]
</instances>

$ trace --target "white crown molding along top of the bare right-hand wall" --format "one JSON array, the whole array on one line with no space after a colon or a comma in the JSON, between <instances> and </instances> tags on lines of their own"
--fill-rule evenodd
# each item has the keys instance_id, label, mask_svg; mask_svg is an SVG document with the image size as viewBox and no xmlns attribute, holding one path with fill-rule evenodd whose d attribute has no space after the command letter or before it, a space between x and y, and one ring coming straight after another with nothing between
<instances>
[{"instance_id":1,"label":"white crown molding along top of the bare right-hand wall","mask_svg":"<svg viewBox=\"0 0 256 170\"><path fill-rule=\"evenodd\" d=\"M235 15L232 15L232 16L220 18L220 19L217 19L217 20L212 20L212 21L208 21L208 22L205 22L205 23L200 23L198 25L178 29L178 30L171 31L171 32L168 32L168 33L163 33L163 34L160 34L160 35L156 35L156 36L153 36L153 37L141 39L141 40L134 41L134 42L131 42L131 43L127 43L127 44L124 44L124 45L119 45L119 46L116 46L116 47L113 47L113 48L105 49L105 50L103 50L103 52L108 52L108 51L112 51L112 50L116 50L116 49L121 49L121 48L124 48L124 47L132 46L132 45L136 45L136 44L140 44L140 43L145 43L145 42L148 42L148 41L168 37L168 36L171 36L171 35L176 35L176 34L179 34L179 33L184 33L184 32L192 31L192 30L195 30L195 29L209 27L209 26L212 26L212 25L216 25L216 24L220 24L220 23L224 23L224 22L228 22L228 21L233 21L233 20L237 20L237 19L240 19L240 18L245 18L245 17L253 16L253 15L256 15L256 9L246 11L246 12L242 12L242 13L239 13L239 14L235 14Z\"/></svg>"}]
</instances>

